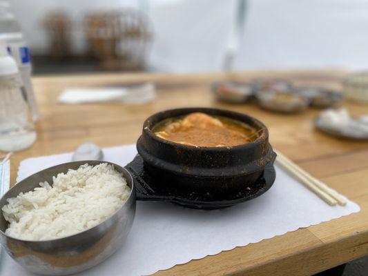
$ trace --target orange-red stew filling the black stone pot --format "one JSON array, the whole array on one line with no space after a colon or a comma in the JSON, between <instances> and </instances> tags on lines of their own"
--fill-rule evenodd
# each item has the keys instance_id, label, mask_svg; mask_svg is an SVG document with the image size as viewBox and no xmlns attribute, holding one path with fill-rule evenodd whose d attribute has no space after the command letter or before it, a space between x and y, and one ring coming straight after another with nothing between
<instances>
[{"instance_id":1,"label":"orange-red stew filling the black stone pot","mask_svg":"<svg viewBox=\"0 0 368 276\"><path fill-rule=\"evenodd\" d=\"M259 131L248 124L202 112L165 119L153 128L153 132L162 139L198 147L238 146L259 137Z\"/></svg>"}]
</instances>

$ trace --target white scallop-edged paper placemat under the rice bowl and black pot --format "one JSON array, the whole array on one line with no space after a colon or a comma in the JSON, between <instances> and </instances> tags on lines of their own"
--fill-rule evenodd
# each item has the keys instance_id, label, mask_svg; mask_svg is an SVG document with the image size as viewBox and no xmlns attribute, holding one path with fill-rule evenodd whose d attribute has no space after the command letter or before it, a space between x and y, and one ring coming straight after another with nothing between
<instances>
[{"instance_id":1,"label":"white scallop-edged paper placemat under the rice bowl and black pot","mask_svg":"<svg viewBox=\"0 0 368 276\"><path fill-rule=\"evenodd\" d=\"M106 161L122 166L135 154L134 145L104 150ZM19 166L17 180L68 162L71 155L26 159ZM276 173L275 184L267 193L230 208L193 210L164 202L137 201L133 228L124 246L79 275L148 275L360 210L352 201L344 207L331 207L280 168L276 167ZM4 261L2 276L31 275L8 255Z\"/></svg>"}]
</instances>

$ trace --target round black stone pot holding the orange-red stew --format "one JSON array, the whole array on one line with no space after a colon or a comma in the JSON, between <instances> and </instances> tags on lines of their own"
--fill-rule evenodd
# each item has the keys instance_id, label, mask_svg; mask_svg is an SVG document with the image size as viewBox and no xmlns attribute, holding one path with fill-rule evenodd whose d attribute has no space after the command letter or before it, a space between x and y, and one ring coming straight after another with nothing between
<instances>
[{"instance_id":1,"label":"round black stone pot holding the orange-red stew","mask_svg":"<svg viewBox=\"0 0 368 276\"><path fill-rule=\"evenodd\" d=\"M153 133L153 126L159 121L191 112L236 119L262 131L249 144L220 148L185 146ZM195 193L223 195L252 188L265 166L275 159L264 124L242 113L215 108L179 108L152 115L144 122L137 150L144 161L144 170L155 183Z\"/></svg>"}]
</instances>

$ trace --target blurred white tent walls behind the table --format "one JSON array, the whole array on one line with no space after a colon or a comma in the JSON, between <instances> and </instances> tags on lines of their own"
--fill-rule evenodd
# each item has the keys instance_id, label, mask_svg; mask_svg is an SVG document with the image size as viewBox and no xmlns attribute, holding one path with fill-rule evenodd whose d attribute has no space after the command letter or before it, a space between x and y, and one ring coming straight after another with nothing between
<instances>
[{"instance_id":1,"label":"blurred white tent walls behind the table","mask_svg":"<svg viewBox=\"0 0 368 276\"><path fill-rule=\"evenodd\" d=\"M147 0L155 40L153 70L199 72L222 69L236 0ZM368 1L249 0L235 69L368 67ZM60 8L80 19L97 8L139 8L135 0L12 0L33 52L46 50L39 20ZM75 52L84 49L73 30Z\"/></svg>"}]
</instances>

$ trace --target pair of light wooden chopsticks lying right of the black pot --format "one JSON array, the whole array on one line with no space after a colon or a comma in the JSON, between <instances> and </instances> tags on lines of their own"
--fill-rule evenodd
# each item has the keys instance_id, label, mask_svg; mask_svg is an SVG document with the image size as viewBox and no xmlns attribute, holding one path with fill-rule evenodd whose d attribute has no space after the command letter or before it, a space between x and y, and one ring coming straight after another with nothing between
<instances>
[{"instance_id":1,"label":"pair of light wooden chopsticks lying right of the black pot","mask_svg":"<svg viewBox=\"0 0 368 276\"><path fill-rule=\"evenodd\" d=\"M278 157L276 157L276 162L280 164L285 170L287 170L291 175L296 177L299 181L307 186L313 193L318 195L323 201L331 206L345 206L347 201L344 197L336 193L334 190L323 184L320 180L311 176L308 172L300 168L297 164L291 161L282 153L276 151Z\"/></svg>"}]
</instances>

